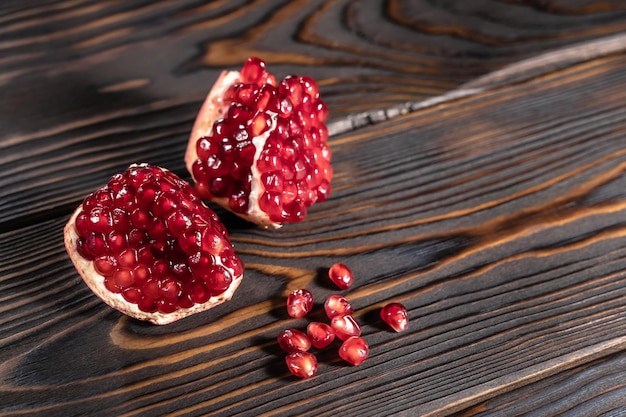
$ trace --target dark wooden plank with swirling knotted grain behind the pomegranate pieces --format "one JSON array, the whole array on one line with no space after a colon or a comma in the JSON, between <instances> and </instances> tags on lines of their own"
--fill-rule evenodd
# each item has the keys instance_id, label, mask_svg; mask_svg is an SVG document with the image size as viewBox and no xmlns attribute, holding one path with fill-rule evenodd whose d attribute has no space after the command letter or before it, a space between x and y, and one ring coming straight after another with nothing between
<instances>
[{"instance_id":1,"label":"dark wooden plank with swirling knotted grain behind the pomegranate pieces","mask_svg":"<svg viewBox=\"0 0 626 417\"><path fill-rule=\"evenodd\" d=\"M622 2L18 2L0 8L0 230L113 172L180 154L209 86L249 55L319 80L349 128L525 57L619 34ZM80 175L77 175L77 174Z\"/></svg>"}]
</instances>

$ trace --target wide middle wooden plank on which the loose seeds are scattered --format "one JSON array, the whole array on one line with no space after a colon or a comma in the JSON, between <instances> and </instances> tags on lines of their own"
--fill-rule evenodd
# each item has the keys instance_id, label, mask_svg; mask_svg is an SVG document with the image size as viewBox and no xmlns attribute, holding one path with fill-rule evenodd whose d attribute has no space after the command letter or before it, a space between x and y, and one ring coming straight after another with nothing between
<instances>
[{"instance_id":1,"label":"wide middle wooden plank on which the loose seeds are scattered","mask_svg":"<svg viewBox=\"0 0 626 417\"><path fill-rule=\"evenodd\" d=\"M171 326L88 292L64 216L4 232L0 415L446 415L623 351L625 78L609 55L334 137L332 198L278 231L224 217L244 283ZM323 300L335 261L371 357L330 349L295 380L284 296ZM410 331L382 325L388 301Z\"/></svg>"}]
</instances>

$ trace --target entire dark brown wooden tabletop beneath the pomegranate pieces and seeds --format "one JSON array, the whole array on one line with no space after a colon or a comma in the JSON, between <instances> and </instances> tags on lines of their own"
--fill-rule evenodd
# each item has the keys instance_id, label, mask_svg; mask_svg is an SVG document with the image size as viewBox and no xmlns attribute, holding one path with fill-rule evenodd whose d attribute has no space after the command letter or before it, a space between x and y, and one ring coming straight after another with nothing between
<instances>
[{"instance_id":1,"label":"entire dark brown wooden tabletop beneath the pomegranate pieces and seeds","mask_svg":"<svg viewBox=\"0 0 626 417\"><path fill-rule=\"evenodd\" d=\"M2 2L0 415L626 415L625 29L620 0ZM216 209L233 300L124 317L62 228L130 163L188 178L196 111L249 55L319 81L333 194L278 231ZM323 300L337 261L370 358L297 380L285 295Z\"/></svg>"}]
</instances>

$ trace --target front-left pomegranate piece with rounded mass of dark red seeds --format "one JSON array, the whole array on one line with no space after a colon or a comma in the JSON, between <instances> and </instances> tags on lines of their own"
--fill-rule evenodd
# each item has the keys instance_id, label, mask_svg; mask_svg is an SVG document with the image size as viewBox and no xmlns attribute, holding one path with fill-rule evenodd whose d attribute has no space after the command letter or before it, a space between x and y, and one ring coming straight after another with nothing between
<instances>
[{"instance_id":1,"label":"front-left pomegranate piece with rounded mass of dark red seeds","mask_svg":"<svg viewBox=\"0 0 626 417\"><path fill-rule=\"evenodd\" d=\"M65 227L65 247L98 297L155 324L230 300L243 276L217 215L187 182L147 164L85 198Z\"/></svg>"}]
</instances>

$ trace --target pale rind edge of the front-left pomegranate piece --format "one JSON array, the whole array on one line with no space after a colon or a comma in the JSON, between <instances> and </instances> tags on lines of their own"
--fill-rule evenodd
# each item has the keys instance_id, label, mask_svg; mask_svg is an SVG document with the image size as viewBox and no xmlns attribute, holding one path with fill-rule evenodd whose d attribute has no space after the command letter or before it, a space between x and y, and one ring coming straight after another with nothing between
<instances>
[{"instance_id":1,"label":"pale rind edge of the front-left pomegranate piece","mask_svg":"<svg viewBox=\"0 0 626 417\"><path fill-rule=\"evenodd\" d=\"M134 164L131 165L135 166ZM122 297L121 294L115 294L110 292L104 286L104 276L100 275L96 269L94 268L94 264L92 261L83 258L76 249L76 244L78 240L78 234L76 233L76 217L82 211L83 205L79 205L70 219L68 220L65 228L63 230L63 237L65 243L65 250L72 261L72 264L76 268L76 271L85 282L87 287L108 304L110 307L120 311L121 313L130 316L132 318L148 321L157 325L164 325L173 323L182 318L188 317L192 314L200 313L202 311L209 310L217 305L220 305L226 301L232 299L235 291L241 284L243 279L243 274L235 275L232 274L233 280L230 286L220 295L212 296L208 301L201 304L194 304L190 308L180 308L172 313L162 313L159 311L155 312L145 312L141 311L137 304L130 303ZM231 273L233 270L222 265L224 268L228 269Z\"/></svg>"}]
</instances>

